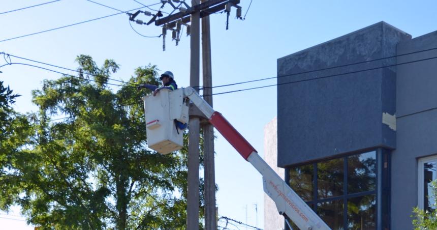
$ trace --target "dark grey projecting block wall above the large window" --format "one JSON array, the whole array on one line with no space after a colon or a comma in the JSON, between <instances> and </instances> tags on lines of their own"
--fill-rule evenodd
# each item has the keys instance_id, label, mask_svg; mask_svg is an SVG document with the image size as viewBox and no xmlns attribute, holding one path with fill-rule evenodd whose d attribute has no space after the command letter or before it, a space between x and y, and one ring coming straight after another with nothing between
<instances>
[{"instance_id":1,"label":"dark grey projecting block wall above the large window","mask_svg":"<svg viewBox=\"0 0 437 230\"><path fill-rule=\"evenodd\" d=\"M396 60L344 65L395 55L396 44L410 38L379 22L278 59L278 166L394 149L396 68L378 67ZM325 70L297 74L318 69Z\"/></svg>"}]
</instances>

